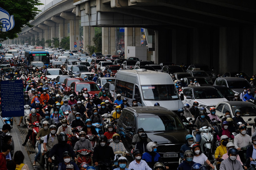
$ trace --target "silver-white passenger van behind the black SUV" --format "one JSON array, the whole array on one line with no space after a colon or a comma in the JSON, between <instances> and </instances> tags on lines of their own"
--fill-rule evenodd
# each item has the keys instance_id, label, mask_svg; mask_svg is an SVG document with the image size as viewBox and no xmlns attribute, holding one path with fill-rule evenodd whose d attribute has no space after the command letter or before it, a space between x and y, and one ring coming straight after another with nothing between
<instances>
[{"instance_id":1,"label":"silver-white passenger van behind the black SUV","mask_svg":"<svg viewBox=\"0 0 256 170\"><path fill-rule=\"evenodd\" d=\"M129 105L132 105L135 98L142 106L154 106L158 102L161 107L175 112L183 108L171 76L163 72L146 69L118 70L114 100L117 94L121 94L122 100L126 98Z\"/></svg>"}]
</instances>

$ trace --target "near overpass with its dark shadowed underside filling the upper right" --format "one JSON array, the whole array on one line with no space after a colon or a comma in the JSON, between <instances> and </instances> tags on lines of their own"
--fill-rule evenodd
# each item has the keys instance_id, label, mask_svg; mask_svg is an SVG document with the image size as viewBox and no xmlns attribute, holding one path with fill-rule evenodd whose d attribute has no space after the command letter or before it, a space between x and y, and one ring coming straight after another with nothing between
<instances>
[{"instance_id":1,"label":"near overpass with its dark shadowed underside filling the upper right","mask_svg":"<svg viewBox=\"0 0 256 170\"><path fill-rule=\"evenodd\" d=\"M81 26L147 28L156 63L256 73L254 0L74 0L74 5Z\"/></svg>"}]
</instances>

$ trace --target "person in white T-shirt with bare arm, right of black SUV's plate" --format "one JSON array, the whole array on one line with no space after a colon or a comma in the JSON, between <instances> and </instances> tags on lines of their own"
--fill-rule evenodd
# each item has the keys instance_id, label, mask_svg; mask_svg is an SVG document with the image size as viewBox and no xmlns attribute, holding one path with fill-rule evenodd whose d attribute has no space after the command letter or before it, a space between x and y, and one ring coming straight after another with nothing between
<instances>
[{"instance_id":1,"label":"person in white T-shirt with bare arm, right of black SUV's plate","mask_svg":"<svg viewBox=\"0 0 256 170\"><path fill-rule=\"evenodd\" d=\"M193 161L195 163L201 163L204 165L206 163L209 165L212 169L214 169L214 166L211 164L211 162L208 160L207 156L205 156L204 153L201 151L201 146L199 144L194 144L192 147L192 151L194 154L194 159Z\"/></svg>"}]
</instances>

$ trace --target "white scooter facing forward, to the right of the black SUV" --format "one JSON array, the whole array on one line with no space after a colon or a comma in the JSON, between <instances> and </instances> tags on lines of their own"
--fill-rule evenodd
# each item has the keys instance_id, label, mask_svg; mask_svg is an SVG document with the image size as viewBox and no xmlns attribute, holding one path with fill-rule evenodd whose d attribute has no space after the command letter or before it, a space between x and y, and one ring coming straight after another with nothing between
<instances>
[{"instance_id":1,"label":"white scooter facing forward, to the right of the black SUV","mask_svg":"<svg viewBox=\"0 0 256 170\"><path fill-rule=\"evenodd\" d=\"M194 135L195 130L193 130L193 137L194 141L196 140L196 136ZM199 132L201 135L201 151L208 157L211 158L211 154L213 153L213 132L210 127L208 126L203 126L199 128Z\"/></svg>"}]
</instances>

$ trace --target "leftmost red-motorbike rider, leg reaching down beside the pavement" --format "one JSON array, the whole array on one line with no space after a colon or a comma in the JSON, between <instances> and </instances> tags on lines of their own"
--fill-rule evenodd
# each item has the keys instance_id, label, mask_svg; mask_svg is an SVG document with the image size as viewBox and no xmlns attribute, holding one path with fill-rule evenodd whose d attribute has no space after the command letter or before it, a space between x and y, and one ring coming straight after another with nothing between
<instances>
[{"instance_id":1,"label":"leftmost red-motorbike rider, leg reaching down beside the pavement","mask_svg":"<svg viewBox=\"0 0 256 170\"><path fill-rule=\"evenodd\" d=\"M26 143L28 142L28 139L29 139L30 135L32 135L32 133L33 133L32 123L34 123L35 121L40 122L40 120L42 119L40 114L36 113L36 109L31 109L30 112L31 112L31 114L29 114L27 116L27 120L26 120L26 123L29 126L28 127L28 134L26 135L26 139L25 139L24 143L22 144L22 146L26 146Z\"/></svg>"}]
</instances>

